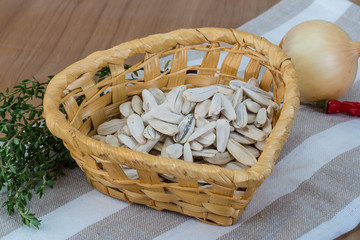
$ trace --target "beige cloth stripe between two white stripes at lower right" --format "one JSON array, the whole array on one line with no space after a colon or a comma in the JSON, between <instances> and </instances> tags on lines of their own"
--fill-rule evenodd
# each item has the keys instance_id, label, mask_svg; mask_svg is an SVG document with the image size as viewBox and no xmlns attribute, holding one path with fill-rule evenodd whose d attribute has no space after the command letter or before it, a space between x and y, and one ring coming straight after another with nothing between
<instances>
[{"instance_id":1,"label":"beige cloth stripe between two white stripes at lower right","mask_svg":"<svg viewBox=\"0 0 360 240\"><path fill-rule=\"evenodd\" d=\"M295 239L328 221L360 195L359 155L357 147L334 158L294 192L220 239Z\"/></svg>"}]
</instances>

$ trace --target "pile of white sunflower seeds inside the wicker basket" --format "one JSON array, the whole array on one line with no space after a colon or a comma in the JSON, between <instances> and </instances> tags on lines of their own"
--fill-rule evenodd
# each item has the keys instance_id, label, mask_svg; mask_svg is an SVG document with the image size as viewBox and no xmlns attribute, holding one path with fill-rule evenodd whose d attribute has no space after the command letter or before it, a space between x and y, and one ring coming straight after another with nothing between
<instances>
[{"instance_id":1,"label":"pile of white sunflower seeds inside the wicker basket","mask_svg":"<svg viewBox=\"0 0 360 240\"><path fill-rule=\"evenodd\" d=\"M255 78L229 86L157 88L120 105L121 119L101 124L94 139L153 155L231 169L253 166L279 106Z\"/></svg>"}]
</instances>

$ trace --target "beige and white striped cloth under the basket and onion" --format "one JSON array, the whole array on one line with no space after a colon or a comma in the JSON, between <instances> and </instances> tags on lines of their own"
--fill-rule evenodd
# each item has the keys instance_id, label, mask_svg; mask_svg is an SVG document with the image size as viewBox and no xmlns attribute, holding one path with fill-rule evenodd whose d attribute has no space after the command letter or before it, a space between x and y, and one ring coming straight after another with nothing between
<instances>
[{"instance_id":1,"label":"beige and white striped cloth under the basket and onion","mask_svg":"<svg viewBox=\"0 0 360 240\"><path fill-rule=\"evenodd\" d=\"M325 19L360 40L360 7L345 0L283 0L239 27L278 44L294 25ZM198 56L191 61L199 62ZM341 100L360 102L359 75ZM34 196L40 230L0 209L0 239L333 239L360 222L360 118L301 106L272 175L234 226L212 226L131 205L94 190L79 168ZM6 193L0 193L3 202Z\"/></svg>"}]
</instances>

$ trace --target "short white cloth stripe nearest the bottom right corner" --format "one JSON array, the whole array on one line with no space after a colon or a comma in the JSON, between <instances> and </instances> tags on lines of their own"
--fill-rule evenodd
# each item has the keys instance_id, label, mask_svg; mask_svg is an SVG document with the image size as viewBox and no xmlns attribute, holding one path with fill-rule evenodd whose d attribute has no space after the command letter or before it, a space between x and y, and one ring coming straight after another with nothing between
<instances>
[{"instance_id":1,"label":"short white cloth stripe nearest the bottom right corner","mask_svg":"<svg viewBox=\"0 0 360 240\"><path fill-rule=\"evenodd\" d=\"M338 212L330 221L304 234L299 240L335 239L354 229L360 223L360 196ZM341 227L339 227L341 226Z\"/></svg>"}]
</instances>

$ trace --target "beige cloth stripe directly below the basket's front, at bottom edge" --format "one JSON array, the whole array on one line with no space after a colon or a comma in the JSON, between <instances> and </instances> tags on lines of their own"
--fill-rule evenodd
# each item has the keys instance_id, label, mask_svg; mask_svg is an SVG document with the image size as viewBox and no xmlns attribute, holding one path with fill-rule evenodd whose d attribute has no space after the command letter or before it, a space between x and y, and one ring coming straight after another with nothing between
<instances>
[{"instance_id":1,"label":"beige cloth stripe directly below the basket's front, at bottom edge","mask_svg":"<svg viewBox=\"0 0 360 240\"><path fill-rule=\"evenodd\" d=\"M170 211L131 205L85 228L70 239L153 239L189 219Z\"/></svg>"}]
</instances>

